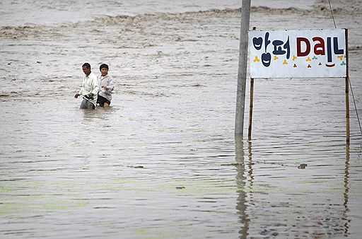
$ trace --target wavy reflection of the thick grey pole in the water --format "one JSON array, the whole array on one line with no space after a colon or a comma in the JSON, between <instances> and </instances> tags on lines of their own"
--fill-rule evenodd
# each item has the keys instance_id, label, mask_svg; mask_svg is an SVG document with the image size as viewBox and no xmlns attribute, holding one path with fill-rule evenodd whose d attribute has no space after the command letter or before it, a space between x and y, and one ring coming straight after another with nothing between
<instances>
[{"instance_id":1,"label":"wavy reflection of the thick grey pole in the water","mask_svg":"<svg viewBox=\"0 0 362 239\"><path fill-rule=\"evenodd\" d=\"M240 238L247 238L249 235L250 218L247 215L247 177L245 177L243 139L235 136L235 161L236 161L236 185L238 187L238 199L236 209L238 210L242 228L239 231Z\"/></svg>"}]
</instances>

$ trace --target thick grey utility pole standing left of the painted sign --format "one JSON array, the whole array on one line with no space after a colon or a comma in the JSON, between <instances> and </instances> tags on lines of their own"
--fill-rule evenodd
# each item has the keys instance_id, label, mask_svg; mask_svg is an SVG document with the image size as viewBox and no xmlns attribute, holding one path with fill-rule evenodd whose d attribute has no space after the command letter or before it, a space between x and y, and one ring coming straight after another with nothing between
<instances>
[{"instance_id":1,"label":"thick grey utility pole standing left of the painted sign","mask_svg":"<svg viewBox=\"0 0 362 239\"><path fill-rule=\"evenodd\" d=\"M235 136L243 138L244 110L245 110L245 85L247 72L247 44L250 23L250 1L243 0L241 4L240 23L240 46L238 64L238 88L236 92L236 112L235 112Z\"/></svg>"}]
</instances>

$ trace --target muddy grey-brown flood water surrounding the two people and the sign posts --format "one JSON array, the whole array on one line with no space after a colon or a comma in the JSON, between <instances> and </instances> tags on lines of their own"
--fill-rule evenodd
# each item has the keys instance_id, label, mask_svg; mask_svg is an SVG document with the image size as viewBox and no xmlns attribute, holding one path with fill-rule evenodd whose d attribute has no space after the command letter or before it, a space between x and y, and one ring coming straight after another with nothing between
<instances>
[{"instance_id":1,"label":"muddy grey-brown flood water surrounding the two people and the sign posts","mask_svg":"<svg viewBox=\"0 0 362 239\"><path fill-rule=\"evenodd\" d=\"M343 78L255 80L250 141L247 83L235 139L238 1L87 2L1 2L0 238L361 235L361 1L331 1L349 28L349 145ZM334 28L305 2L256 1L250 25ZM84 62L110 65L110 109L79 109Z\"/></svg>"}]
</instances>

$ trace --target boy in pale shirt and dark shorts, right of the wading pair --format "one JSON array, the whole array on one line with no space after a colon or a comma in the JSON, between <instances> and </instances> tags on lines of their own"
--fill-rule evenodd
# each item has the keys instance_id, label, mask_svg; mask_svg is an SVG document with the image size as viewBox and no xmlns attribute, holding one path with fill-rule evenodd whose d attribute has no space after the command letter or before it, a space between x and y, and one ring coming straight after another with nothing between
<instances>
[{"instance_id":1,"label":"boy in pale shirt and dark shorts, right of the wading pair","mask_svg":"<svg viewBox=\"0 0 362 239\"><path fill-rule=\"evenodd\" d=\"M100 107L109 107L112 100L112 91L115 90L113 85L112 76L108 76L108 65L101 64L99 66L100 76L98 77L98 85L100 86L98 91L97 103Z\"/></svg>"}]
</instances>

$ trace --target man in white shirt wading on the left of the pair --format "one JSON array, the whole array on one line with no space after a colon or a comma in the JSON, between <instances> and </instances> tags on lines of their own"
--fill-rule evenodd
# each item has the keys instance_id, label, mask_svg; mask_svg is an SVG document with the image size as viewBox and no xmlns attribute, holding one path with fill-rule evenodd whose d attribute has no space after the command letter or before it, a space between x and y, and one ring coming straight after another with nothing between
<instances>
[{"instance_id":1,"label":"man in white shirt wading on the left of the pair","mask_svg":"<svg viewBox=\"0 0 362 239\"><path fill-rule=\"evenodd\" d=\"M74 95L74 98L83 95L83 101L80 108L94 110L99 90L97 76L91 72L91 65L89 63L84 63L82 69L86 76L83 78L81 90Z\"/></svg>"}]
</instances>

